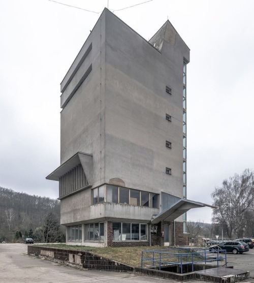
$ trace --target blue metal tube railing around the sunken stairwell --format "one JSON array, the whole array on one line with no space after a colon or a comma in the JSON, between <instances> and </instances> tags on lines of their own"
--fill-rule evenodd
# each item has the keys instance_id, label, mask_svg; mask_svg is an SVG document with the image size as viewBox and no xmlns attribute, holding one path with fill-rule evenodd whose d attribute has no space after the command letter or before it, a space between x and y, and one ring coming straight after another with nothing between
<instances>
[{"instance_id":1,"label":"blue metal tube railing around the sunken stairwell","mask_svg":"<svg viewBox=\"0 0 254 283\"><path fill-rule=\"evenodd\" d=\"M195 251L194 251L195 250ZM219 255L223 252L225 256ZM148 255L149 253L149 255ZM152 255L151 255L152 254ZM148 257L145 258L145 255ZM170 265L176 265L180 268L181 274L183 273L184 265L192 265L192 271L194 271L194 264L196 263L209 263L217 262L217 267L219 266L219 261L225 260L227 266L227 253L224 249L192 249L190 248L170 248L161 250L143 250L141 267L147 266L147 263L151 263L149 266L158 267L161 270L162 267L169 267Z\"/></svg>"}]
</instances>

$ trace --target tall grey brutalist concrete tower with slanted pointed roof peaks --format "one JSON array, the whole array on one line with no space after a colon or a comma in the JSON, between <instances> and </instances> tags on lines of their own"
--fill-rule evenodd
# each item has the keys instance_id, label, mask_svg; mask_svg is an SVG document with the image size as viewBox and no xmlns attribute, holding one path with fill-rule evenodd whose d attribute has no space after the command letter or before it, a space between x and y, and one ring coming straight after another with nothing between
<instances>
[{"instance_id":1,"label":"tall grey brutalist concrete tower with slanted pointed roof peaks","mask_svg":"<svg viewBox=\"0 0 254 283\"><path fill-rule=\"evenodd\" d=\"M186 244L186 66L167 21L146 41L105 9L61 82L68 244Z\"/></svg>"}]
</instances>

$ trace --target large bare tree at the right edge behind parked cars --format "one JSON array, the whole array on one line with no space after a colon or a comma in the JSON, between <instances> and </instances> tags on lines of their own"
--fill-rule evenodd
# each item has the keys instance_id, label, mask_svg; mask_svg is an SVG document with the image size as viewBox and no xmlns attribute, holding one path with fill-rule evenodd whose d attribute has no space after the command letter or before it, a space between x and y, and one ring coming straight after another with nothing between
<instances>
[{"instance_id":1,"label":"large bare tree at the right edge behind parked cars","mask_svg":"<svg viewBox=\"0 0 254 283\"><path fill-rule=\"evenodd\" d=\"M224 180L211 196L217 207L213 209L213 223L226 227L228 237L241 237L254 202L254 172L245 169Z\"/></svg>"}]
</instances>

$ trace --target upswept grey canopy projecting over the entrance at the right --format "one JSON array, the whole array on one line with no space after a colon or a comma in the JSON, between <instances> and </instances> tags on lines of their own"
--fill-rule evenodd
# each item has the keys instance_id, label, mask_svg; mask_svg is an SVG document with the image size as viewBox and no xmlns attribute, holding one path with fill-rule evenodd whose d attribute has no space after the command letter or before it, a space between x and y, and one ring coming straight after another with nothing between
<instances>
[{"instance_id":1,"label":"upswept grey canopy projecting over the entrance at the right","mask_svg":"<svg viewBox=\"0 0 254 283\"><path fill-rule=\"evenodd\" d=\"M172 206L170 206L165 211L154 216L151 219L151 224L157 224L161 221L172 222L177 217L181 216L183 213L187 212L191 208L205 207L205 206L215 208L214 206L209 205L209 204L196 202L196 201L190 201L186 199L180 199L179 201L174 203Z\"/></svg>"}]
</instances>

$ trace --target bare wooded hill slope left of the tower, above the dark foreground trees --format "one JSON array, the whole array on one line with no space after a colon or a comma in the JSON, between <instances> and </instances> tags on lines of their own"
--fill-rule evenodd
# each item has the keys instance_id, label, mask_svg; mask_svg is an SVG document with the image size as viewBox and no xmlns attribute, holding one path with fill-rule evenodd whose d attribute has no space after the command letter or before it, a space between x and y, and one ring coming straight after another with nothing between
<instances>
[{"instance_id":1,"label":"bare wooded hill slope left of the tower, above the dark foreground trees","mask_svg":"<svg viewBox=\"0 0 254 283\"><path fill-rule=\"evenodd\" d=\"M17 231L25 235L42 227L49 212L59 221L60 201L0 186L0 240L10 240Z\"/></svg>"}]
</instances>

